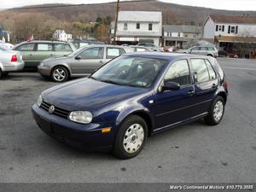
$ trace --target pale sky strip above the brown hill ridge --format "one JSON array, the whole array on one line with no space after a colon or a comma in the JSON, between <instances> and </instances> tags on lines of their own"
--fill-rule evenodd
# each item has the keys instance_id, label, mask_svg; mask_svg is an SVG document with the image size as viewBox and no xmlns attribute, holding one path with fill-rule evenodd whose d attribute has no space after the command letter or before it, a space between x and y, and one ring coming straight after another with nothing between
<instances>
[{"instance_id":1,"label":"pale sky strip above the brown hill ridge","mask_svg":"<svg viewBox=\"0 0 256 192\"><path fill-rule=\"evenodd\" d=\"M26 5L35 5L43 3L108 3L116 0L0 0L0 9L10 9ZM229 10L254 10L256 11L256 0L160 0L166 3L177 3L192 5L198 7L207 7L212 9Z\"/></svg>"}]
</instances>

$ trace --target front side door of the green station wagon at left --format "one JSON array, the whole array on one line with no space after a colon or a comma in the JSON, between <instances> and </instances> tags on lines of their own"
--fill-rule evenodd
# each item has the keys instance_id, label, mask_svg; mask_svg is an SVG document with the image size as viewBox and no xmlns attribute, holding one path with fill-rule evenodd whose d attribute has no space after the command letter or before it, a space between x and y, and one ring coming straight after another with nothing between
<instances>
[{"instance_id":1,"label":"front side door of the green station wagon at left","mask_svg":"<svg viewBox=\"0 0 256 192\"><path fill-rule=\"evenodd\" d=\"M22 59L25 62L24 68L32 68L36 67L36 63L34 62L34 53L35 53L35 44L27 43L21 44L19 47L16 47L15 50L19 50L22 55Z\"/></svg>"}]
</instances>

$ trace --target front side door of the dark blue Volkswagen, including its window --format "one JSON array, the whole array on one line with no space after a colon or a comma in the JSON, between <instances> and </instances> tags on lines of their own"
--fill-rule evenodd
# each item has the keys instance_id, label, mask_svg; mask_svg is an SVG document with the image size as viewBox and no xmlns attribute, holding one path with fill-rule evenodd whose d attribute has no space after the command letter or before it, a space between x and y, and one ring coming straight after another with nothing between
<instances>
[{"instance_id":1,"label":"front side door of the dark blue Volkswagen, including its window","mask_svg":"<svg viewBox=\"0 0 256 192\"><path fill-rule=\"evenodd\" d=\"M179 90L162 90L164 81L180 84ZM195 115L194 112L195 87L187 60L175 61L169 67L158 93L155 95L156 104L151 111L154 112L156 131L165 129L189 119Z\"/></svg>"}]
</instances>

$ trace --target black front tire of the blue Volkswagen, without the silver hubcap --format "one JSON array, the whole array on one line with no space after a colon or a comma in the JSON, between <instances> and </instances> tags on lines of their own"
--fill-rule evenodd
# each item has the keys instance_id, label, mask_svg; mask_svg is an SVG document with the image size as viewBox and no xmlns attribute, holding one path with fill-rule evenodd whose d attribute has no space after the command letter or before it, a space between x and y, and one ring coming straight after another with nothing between
<instances>
[{"instance_id":1,"label":"black front tire of the blue Volkswagen, without the silver hubcap","mask_svg":"<svg viewBox=\"0 0 256 192\"><path fill-rule=\"evenodd\" d=\"M125 151L125 148L123 146L123 141L124 141L124 137L125 137L125 131L127 131L128 128L133 124L140 124L143 126L144 140L143 140L141 148L139 148L137 150L137 152L135 152L133 154L129 154ZM140 116L131 115L128 118L126 118L124 120L124 122L119 126L119 131L116 134L115 142L114 142L114 146L113 146L113 154L115 154L117 157L119 157L122 160L126 160L126 159L130 159L132 157L135 157L135 156L137 156L137 154L139 154L143 150L143 147L145 145L147 137L148 137L148 126L147 126L147 123L145 122L145 120L143 118L141 118Z\"/></svg>"}]
</instances>

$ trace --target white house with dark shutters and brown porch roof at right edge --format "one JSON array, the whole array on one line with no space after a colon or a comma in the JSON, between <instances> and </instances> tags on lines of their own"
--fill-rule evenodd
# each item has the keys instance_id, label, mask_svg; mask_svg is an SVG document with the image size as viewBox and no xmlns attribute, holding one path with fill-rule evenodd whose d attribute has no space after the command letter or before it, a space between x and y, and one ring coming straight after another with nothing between
<instances>
[{"instance_id":1,"label":"white house with dark shutters and brown porch roof at right edge","mask_svg":"<svg viewBox=\"0 0 256 192\"><path fill-rule=\"evenodd\" d=\"M242 44L250 44L247 55L255 55L256 17L209 15L203 25L203 39L235 55L243 51Z\"/></svg>"}]
</instances>

